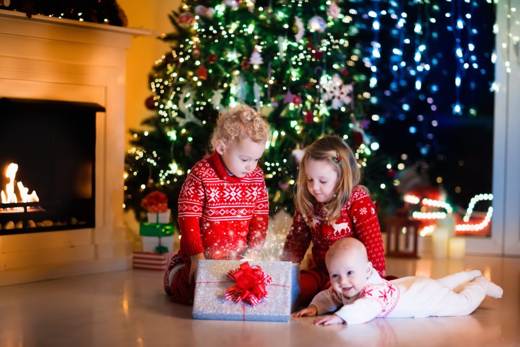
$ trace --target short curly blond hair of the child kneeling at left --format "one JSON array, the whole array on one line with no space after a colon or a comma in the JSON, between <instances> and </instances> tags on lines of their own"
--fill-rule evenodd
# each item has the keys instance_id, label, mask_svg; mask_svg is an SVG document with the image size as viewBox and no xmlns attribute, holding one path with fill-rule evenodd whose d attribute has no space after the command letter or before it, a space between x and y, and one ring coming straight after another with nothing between
<instances>
[{"instance_id":1,"label":"short curly blond hair of the child kneeling at left","mask_svg":"<svg viewBox=\"0 0 520 347\"><path fill-rule=\"evenodd\" d=\"M210 150L221 140L226 146L249 136L254 142L266 143L271 137L269 123L255 109L247 105L227 108L218 114L210 140Z\"/></svg>"}]
</instances>

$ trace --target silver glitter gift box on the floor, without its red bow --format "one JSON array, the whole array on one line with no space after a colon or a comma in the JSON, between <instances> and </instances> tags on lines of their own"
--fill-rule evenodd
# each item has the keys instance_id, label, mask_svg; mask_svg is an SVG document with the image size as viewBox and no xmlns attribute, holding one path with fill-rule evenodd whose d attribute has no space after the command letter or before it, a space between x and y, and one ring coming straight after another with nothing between
<instances>
[{"instance_id":1,"label":"silver glitter gift box on the floor, without its red bow","mask_svg":"<svg viewBox=\"0 0 520 347\"><path fill-rule=\"evenodd\" d=\"M300 265L291 262L249 261L271 276L267 286L268 298L251 306L240 301L226 300L226 290L235 281L226 277L231 269L237 269L239 260L199 260L193 318L213 320L256 320L263 322L289 322L291 312L298 308L300 295Z\"/></svg>"}]
</instances>

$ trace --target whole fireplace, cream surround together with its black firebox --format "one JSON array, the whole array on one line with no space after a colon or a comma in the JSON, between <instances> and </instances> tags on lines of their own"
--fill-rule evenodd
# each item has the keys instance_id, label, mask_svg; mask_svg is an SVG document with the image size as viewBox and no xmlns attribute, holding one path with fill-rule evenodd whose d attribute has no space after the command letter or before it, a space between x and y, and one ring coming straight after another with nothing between
<instances>
[{"instance_id":1,"label":"whole fireplace, cream surround together with its black firebox","mask_svg":"<svg viewBox=\"0 0 520 347\"><path fill-rule=\"evenodd\" d=\"M53 109L32 120L28 112L7 118L0 110L0 190L11 182L5 170L14 163L13 181L39 200L1 207L27 212L17 216L20 228L0 229L0 286L132 266L123 220L126 50L133 36L150 34L0 10L2 102ZM44 137L51 132L57 137ZM41 137L29 139L29 133ZM0 224L16 225L5 215ZM31 228L31 220L47 222Z\"/></svg>"}]
</instances>

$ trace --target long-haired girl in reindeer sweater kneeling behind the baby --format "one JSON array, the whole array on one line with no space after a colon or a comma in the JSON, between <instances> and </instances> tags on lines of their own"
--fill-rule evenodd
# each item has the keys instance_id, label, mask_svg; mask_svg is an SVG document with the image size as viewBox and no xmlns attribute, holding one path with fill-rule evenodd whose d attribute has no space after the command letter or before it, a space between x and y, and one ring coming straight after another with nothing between
<instances>
[{"instance_id":1,"label":"long-haired girl in reindeer sweater kneeling behind the baby","mask_svg":"<svg viewBox=\"0 0 520 347\"><path fill-rule=\"evenodd\" d=\"M296 212L281 260L301 263L313 242L314 267L301 272L300 303L307 306L330 286L325 254L335 241L355 237L367 248L368 259L385 277L383 240L375 206L354 153L337 136L325 136L305 148L294 198Z\"/></svg>"}]
</instances>

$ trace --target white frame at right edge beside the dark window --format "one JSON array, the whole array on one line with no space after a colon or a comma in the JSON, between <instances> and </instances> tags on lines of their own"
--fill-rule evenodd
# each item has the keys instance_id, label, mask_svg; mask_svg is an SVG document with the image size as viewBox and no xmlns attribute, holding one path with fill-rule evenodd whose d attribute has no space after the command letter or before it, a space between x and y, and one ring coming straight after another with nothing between
<instances>
[{"instance_id":1,"label":"white frame at right edge beside the dark window","mask_svg":"<svg viewBox=\"0 0 520 347\"><path fill-rule=\"evenodd\" d=\"M491 240L472 240L484 253L520 255L520 0L497 5L493 220ZM516 44L515 44L516 42Z\"/></svg>"}]
</instances>

